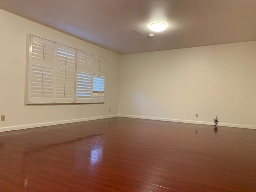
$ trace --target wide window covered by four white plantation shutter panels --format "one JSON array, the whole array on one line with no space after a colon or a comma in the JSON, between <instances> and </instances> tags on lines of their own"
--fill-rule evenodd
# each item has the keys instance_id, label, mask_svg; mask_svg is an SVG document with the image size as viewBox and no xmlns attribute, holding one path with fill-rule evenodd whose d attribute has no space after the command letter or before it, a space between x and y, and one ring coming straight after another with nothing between
<instances>
[{"instance_id":1,"label":"wide window covered by four white plantation shutter panels","mask_svg":"<svg viewBox=\"0 0 256 192\"><path fill-rule=\"evenodd\" d=\"M27 104L105 100L106 59L30 35Z\"/></svg>"}]
</instances>

